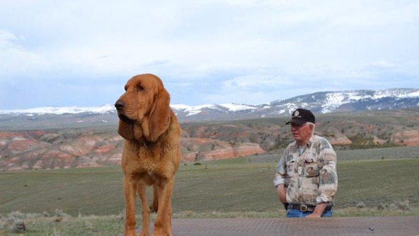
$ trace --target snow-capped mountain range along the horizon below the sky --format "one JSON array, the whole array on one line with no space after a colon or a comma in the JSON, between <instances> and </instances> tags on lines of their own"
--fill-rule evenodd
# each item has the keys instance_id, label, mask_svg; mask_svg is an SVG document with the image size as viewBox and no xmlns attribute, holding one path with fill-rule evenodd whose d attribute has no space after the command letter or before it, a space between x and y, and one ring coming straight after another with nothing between
<instances>
[{"instance_id":1,"label":"snow-capped mountain range along the horizon below the sky","mask_svg":"<svg viewBox=\"0 0 419 236\"><path fill-rule=\"evenodd\" d=\"M378 111L419 106L419 89L385 89L354 91L323 91L272 101L259 105L236 103L188 106L173 104L171 108L180 121L229 120L289 116L296 108L308 108L314 113L344 111ZM113 105L98 107L40 107L25 110L0 111L1 117L69 114L115 114ZM116 116L115 116L116 118Z\"/></svg>"}]
</instances>

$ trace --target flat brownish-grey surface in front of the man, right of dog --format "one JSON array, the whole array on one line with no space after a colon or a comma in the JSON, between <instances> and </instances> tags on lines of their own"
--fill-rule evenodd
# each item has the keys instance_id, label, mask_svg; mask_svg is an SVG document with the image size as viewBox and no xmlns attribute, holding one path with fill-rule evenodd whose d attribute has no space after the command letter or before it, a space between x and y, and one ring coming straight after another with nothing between
<instances>
[{"instance_id":1,"label":"flat brownish-grey surface in front of the man, right of dog","mask_svg":"<svg viewBox=\"0 0 419 236\"><path fill-rule=\"evenodd\" d=\"M173 219L174 236L406 235L419 236L419 216L377 218Z\"/></svg>"}]
</instances>

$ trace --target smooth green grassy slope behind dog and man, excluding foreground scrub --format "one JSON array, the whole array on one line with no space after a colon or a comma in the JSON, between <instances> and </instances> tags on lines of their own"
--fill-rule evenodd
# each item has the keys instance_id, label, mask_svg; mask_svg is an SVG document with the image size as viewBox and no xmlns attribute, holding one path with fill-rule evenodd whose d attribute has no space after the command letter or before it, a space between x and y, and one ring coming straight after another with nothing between
<instances>
[{"instance_id":1,"label":"smooth green grassy slope behind dog and man, excluding foreground scrub","mask_svg":"<svg viewBox=\"0 0 419 236\"><path fill-rule=\"evenodd\" d=\"M180 167L173 211L182 213L275 211L275 163L207 163ZM232 163L238 162L238 163ZM338 163L336 208L419 208L419 158L348 160ZM70 215L115 215L124 208L119 167L57 169L0 174L0 213L22 211Z\"/></svg>"}]
</instances>

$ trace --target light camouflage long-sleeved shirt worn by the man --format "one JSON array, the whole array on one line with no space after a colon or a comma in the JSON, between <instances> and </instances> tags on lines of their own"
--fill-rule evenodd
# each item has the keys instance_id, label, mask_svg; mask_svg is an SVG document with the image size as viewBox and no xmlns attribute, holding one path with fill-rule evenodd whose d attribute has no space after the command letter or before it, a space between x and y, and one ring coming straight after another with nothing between
<instances>
[{"instance_id":1,"label":"light camouflage long-sleeved shirt worn by the man","mask_svg":"<svg viewBox=\"0 0 419 236\"><path fill-rule=\"evenodd\" d=\"M338 190L336 162L336 153L326 138L313 135L302 150L294 141L282 154L273 183L285 184L288 203L333 205Z\"/></svg>"}]
</instances>

